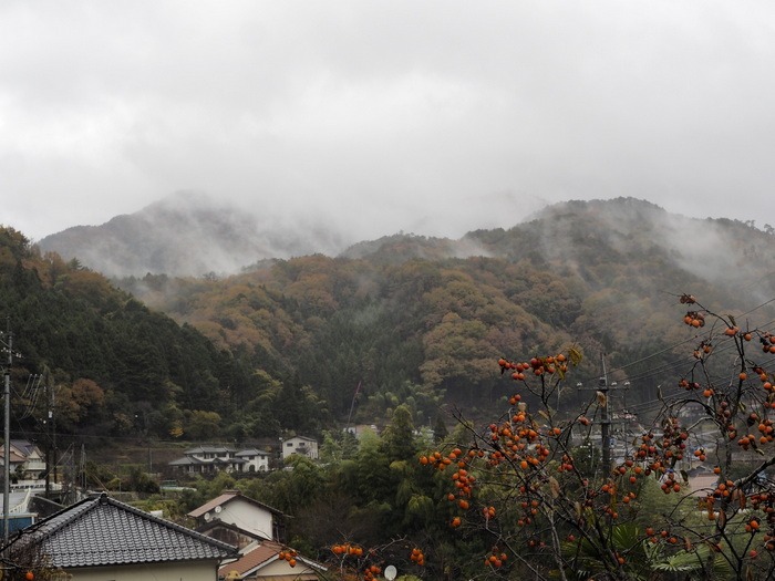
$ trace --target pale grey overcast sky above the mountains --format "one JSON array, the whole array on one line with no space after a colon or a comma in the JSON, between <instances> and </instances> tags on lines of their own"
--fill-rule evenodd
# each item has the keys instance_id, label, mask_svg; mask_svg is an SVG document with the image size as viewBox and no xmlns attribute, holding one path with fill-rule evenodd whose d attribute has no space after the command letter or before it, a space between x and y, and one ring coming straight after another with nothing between
<instances>
[{"instance_id":1,"label":"pale grey overcast sky above the mountains","mask_svg":"<svg viewBox=\"0 0 775 581\"><path fill-rule=\"evenodd\" d=\"M775 2L0 2L0 224L178 190L359 238L632 196L775 225Z\"/></svg>"}]
</instances>

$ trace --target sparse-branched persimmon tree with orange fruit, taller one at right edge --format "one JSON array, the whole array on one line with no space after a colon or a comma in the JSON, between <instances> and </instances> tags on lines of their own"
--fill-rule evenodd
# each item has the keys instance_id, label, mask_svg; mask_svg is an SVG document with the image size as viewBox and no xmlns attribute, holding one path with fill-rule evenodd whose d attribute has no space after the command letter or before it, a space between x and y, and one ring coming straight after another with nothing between
<instances>
[{"instance_id":1,"label":"sparse-branched persimmon tree with orange fruit, taller one at right edge","mask_svg":"<svg viewBox=\"0 0 775 581\"><path fill-rule=\"evenodd\" d=\"M692 487L668 516L668 529L647 530L654 544L675 541L673 559L702 578L771 579L775 573L775 334L719 314L683 294L683 322L696 330L692 364L678 394L661 396L662 433L642 438L638 456L661 475L665 494L690 480L676 470L688 448L712 466L711 486ZM655 466L658 465L658 466ZM676 476L680 475L680 476ZM701 518L699 518L701 517Z\"/></svg>"}]
</instances>

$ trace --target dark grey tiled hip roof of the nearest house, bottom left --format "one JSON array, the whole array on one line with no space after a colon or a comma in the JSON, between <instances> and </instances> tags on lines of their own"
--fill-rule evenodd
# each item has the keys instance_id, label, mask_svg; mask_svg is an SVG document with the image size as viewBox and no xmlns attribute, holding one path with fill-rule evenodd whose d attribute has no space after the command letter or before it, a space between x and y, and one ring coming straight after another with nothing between
<instances>
[{"instance_id":1,"label":"dark grey tiled hip roof of the nearest house, bottom left","mask_svg":"<svg viewBox=\"0 0 775 581\"><path fill-rule=\"evenodd\" d=\"M53 567L221 560L236 548L102 494L21 531L9 543L42 547Z\"/></svg>"}]
</instances>

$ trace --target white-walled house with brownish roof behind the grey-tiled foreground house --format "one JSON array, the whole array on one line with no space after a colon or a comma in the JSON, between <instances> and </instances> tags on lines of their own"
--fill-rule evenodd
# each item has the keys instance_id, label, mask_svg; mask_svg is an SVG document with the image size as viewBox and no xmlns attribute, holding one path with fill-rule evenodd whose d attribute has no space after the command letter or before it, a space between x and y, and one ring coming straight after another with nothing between
<instances>
[{"instance_id":1,"label":"white-walled house with brownish roof behind the grey-tiled foreground house","mask_svg":"<svg viewBox=\"0 0 775 581\"><path fill-rule=\"evenodd\" d=\"M285 540L285 515L276 508L242 496L239 490L225 490L219 497L188 512L188 517L196 519L199 531L208 523L217 521L234 525L261 539Z\"/></svg>"}]
</instances>

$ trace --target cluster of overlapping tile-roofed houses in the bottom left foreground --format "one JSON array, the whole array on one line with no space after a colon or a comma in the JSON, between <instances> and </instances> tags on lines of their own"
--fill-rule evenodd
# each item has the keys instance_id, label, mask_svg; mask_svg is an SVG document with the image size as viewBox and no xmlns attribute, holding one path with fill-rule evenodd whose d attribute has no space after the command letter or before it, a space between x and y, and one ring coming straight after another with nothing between
<instances>
[{"instance_id":1,"label":"cluster of overlapping tile-roofed houses in the bottom left foreground","mask_svg":"<svg viewBox=\"0 0 775 581\"><path fill-rule=\"evenodd\" d=\"M106 492L90 494L11 537L6 562L87 581L317 580L317 572L326 569L281 542L281 512L238 491L225 492L188 516L195 522L192 529ZM45 561L31 562L31 554L44 554Z\"/></svg>"}]
</instances>

